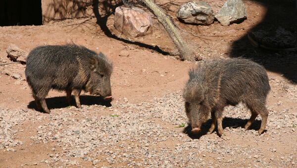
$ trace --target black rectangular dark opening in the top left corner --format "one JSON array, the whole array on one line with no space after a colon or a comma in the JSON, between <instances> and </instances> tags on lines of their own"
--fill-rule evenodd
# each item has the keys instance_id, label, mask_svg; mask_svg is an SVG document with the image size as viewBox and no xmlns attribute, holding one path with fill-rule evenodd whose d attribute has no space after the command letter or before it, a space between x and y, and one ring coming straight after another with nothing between
<instances>
[{"instance_id":1,"label":"black rectangular dark opening in the top left corner","mask_svg":"<svg viewBox=\"0 0 297 168\"><path fill-rule=\"evenodd\" d=\"M0 26L42 25L41 0L0 0Z\"/></svg>"}]
</instances>

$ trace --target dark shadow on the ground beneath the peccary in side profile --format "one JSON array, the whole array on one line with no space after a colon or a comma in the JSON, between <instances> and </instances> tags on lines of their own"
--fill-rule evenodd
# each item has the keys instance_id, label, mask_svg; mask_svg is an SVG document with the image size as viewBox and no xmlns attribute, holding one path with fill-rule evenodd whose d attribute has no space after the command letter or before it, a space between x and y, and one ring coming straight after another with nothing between
<instances>
[{"instance_id":1,"label":"dark shadow on the ground beneath the peccary in side profile","mask_svg":"<svg viewBox=\"0 0 297 168\"><path fill-rule=\"evenodd\" d=\"M69 106L66 103L66 96L47 98L46 102L47 102L49 110L66 108ZM80 102L81 102L81 105L87 105L87 106L101 105L101 106L111 107L111 104L110 104L111 100L106 101L103 99L103 97L100 97L100 96L81 95ZM72 96L72 100L71 100L71 106L76 106L73 96ZM31 101L28 105L28 108L37 110L35 101Z\"/></svg>"}]
</instances>

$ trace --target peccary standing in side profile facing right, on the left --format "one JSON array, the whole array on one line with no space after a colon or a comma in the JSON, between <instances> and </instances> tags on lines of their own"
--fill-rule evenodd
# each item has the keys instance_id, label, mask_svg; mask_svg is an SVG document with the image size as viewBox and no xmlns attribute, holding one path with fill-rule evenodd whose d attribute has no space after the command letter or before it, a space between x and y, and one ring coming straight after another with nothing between
<instances>
[{"instance_id":1,"label":"peccary standing in side profile facing right, on the left","mask_svg":"<svg viewBox=\"0 0 297 168\"><path fill-rule=\"evenodd\" d=\"M83 46L41 46L33 49L26 63L26 78L37 108L50 113L45 98L50 89L65 90L70 105L71 92L81 108L81 90L111 99L112 64L102 53Z\"/></svg>"}]
</instances>

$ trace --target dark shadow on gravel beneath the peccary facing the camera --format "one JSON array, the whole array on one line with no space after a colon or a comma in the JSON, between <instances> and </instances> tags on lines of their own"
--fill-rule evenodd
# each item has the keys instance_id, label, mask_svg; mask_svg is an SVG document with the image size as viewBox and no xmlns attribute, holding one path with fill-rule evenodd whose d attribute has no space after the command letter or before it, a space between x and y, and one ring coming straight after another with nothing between
<instances>
[{"instance_id":1,"label":"dark shadow on gravel beneath the peccary facing the camera","mask_svg":"<svg viewBox=\"0 0 297 168\"><path fill-rule=\"evenodd\" d=\"M232 127L232 128L238 128L242 127L244 128L248 119L241 119L241 118L231 118L231 117L225 117L223 118L223 129L226 127ZM192 127L188 125L184 128L183 132L186 133L190 138L192 139L199 139L201 136L206 135L208 132L208 129L211 125L211 119L208 119L206 123L204 123L201 126L201 131L198 134L191 133ZM261 120L255 120L249 129L258 130L261 127ZM217 126L214 129L214 132L218 132ZM213 133L214 133L213 132Z\"/></svg>"}]
</instances>

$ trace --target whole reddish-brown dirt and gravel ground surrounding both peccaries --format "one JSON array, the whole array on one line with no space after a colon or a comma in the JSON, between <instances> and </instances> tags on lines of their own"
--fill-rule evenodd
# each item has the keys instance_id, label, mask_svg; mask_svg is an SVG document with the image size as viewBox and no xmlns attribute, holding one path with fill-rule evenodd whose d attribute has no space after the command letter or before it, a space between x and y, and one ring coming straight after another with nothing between
<instances>
[{"instance_id":1,"label":"whole reddish-brown dirt and gravel ground surrounding both peccaries","mask_svg":"<svg viewBox=\"0 0 297 168\"><path fill-rule=\"evenodd\" d=\"M223 0L205 1L214 6L214 11L224 3ZM139 38L118 33L113 27L112 14L102 21L105 28L102 23L97 24L93 16L42 26L8 26L0 27L0 63L10 61L6 57L9 44L29 52L41 45L74 42L104 53L113 62L114 100L105 108L99 99L83 93L83 110L77 110L67 107L65 93L50 91L47 104L52 113L37 112L24 80L25 65L0 66L0 145L4 144L5 136L11 139L8 146L0 146L0 167L297 167L297 53L254 48L247 41L247 32L255 29L297 28L296 19L282 18L285 12L294 12L292 1L277 5L276 1L245 0L247 19L230 26L222 26L217 21L210 26L180 23L174 12L183 2L185 0L160 0L158 4L166 7L183 37L203 59L245 56L267 69L271 85L267 100L270 116L264 134L257 136L256 129L242 130L240 126L249 117L248 112L241 112L246 111L242 105L225 109L224 124L228 126L224 126L221 138L215 133L193 137L184 133L187 128L178 127L182 123L187 127L180 95L188 80L188 70L195 62L162 54L174 51L175 47L156 19L153 34ZM134 42L127 43L127 39ZM129 55L122 56L123 52ZM21 79L6 75L6 71L20 74ZM94 119L94 127L88 126L88 118ZM259 127L259 123L255 122L254 128ZM73 145L75 138L68 136L75 133L68 135L67 131L81 124L94 128L94 132L86 130L79 136L97 135L90 140L90 143L98 142L97 146ZM155 134L137 125L151 132L156 130ZM51 135L46 130L52 135L61 133L61 139L49 138ZM79 130L83 130L83 126ZM125 130L128 133L123 133ZM158 131L160 133L156 133ZM85 137L78 139L82 138ZM85 148L87 152L78 155L76 148L82 151ZM149 154L142 154L142 150Z\"/></svg>"}]
</instances>

